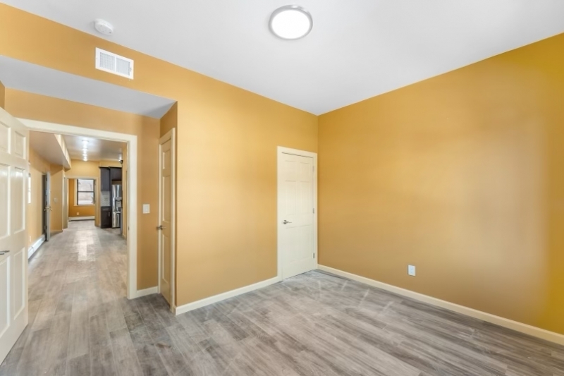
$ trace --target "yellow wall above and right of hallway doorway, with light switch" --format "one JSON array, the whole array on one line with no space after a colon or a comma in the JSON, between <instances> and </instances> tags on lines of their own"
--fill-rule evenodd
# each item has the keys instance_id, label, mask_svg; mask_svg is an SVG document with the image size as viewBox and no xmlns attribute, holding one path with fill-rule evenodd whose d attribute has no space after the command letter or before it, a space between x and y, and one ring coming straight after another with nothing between
<instances>
[{"instance_id":1,"label":"yellow wall above and right of hallway doorway, with light switch","mask_svg":"<svg viewBox=\"0 0 564 376\"><path fill-rule=\"evenodd\" d=\"M158 170L154 160L159 145L159 119L12 89L6 90L6 107L6 111L18 118L137 135L137 289L156 286L157 212L154 208L158 201ZM72 161L68 176L82 174L77 172L81 169L80 162L83 161ZM94 167L98 169L99 164ZM142 214L143 203L153 208L149 214Z\"/></svg>"}]
</instances>

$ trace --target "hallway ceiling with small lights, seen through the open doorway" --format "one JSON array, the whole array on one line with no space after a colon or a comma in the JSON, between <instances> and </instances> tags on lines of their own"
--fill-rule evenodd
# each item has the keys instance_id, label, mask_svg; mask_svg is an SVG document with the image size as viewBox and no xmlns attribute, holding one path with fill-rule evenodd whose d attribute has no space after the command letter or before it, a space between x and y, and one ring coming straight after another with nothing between
<instances>
[{"instance_id":1,"label":"hallway ceiling with small lights, seen through the open doorway","mask_svg":"<svg viewBox=\"0 0 564 376\"><path fill-rule=\"evenodd\" d=\"M82 160L82 140L87 140L87 155L89 161L117 161L125 154L127 145L123 142L101 140L99 138L63 135L66 148L71 159Z\"/></svg>"}]
</instances>

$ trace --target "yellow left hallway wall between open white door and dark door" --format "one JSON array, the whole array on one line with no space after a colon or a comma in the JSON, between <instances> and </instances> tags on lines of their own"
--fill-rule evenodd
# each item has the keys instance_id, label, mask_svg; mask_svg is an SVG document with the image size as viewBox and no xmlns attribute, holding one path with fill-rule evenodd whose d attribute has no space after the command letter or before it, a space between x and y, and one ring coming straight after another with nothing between
<instances>
[{"instance_id":1,"label":"yellow left hallway wall between open white door and dark door","mask_svg":"<svg viewBox=\"0 0 564 376\"><path fill-rule=\"evenodd\" d=\"M51 171L51 164L30 148L31 203L25 210L27 246L43 235L43 175Z\"/></svg>"}]
</instances>

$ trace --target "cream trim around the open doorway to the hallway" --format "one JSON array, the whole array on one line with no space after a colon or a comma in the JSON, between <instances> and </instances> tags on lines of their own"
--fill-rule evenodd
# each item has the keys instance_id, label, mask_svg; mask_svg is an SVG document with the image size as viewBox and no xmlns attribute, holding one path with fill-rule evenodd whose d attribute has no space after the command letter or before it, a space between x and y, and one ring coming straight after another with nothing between
<instances>
[{"instance_id":1,"label":"cream trim around the open doorway to the hallway","mask_svg":"<svg viewBox=\"0 0 564 376\"><path fill-rule=\"evenodd\" d=\"M128 299L137 298L137 136L127 133L100 131L80 126L66 126L46 121L18 119L30 131L41 131L64 135L103 138L104 140L127 142L128 144Z\"/></svg>"}]
</instances>

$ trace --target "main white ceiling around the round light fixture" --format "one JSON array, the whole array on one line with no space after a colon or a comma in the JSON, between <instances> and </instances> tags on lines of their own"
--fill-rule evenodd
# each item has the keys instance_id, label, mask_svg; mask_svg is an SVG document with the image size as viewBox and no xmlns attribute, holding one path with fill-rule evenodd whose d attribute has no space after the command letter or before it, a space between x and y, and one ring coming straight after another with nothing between
<instances>
[{"instance_id":1,"label":"main white ceiling around the round light fixture","mask_svg":"<svg viewBox=\"0 0 564 376\"><path fill-rule=\"evenodd\" d=\"M2 0L313 114L564 32L562 0ZM270 34L272 11L312 13L303 40ZM100 36L100 35L99 35Z\"/></svg>"}]
</instances>

